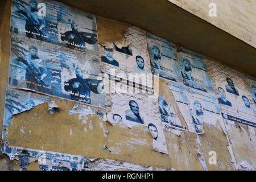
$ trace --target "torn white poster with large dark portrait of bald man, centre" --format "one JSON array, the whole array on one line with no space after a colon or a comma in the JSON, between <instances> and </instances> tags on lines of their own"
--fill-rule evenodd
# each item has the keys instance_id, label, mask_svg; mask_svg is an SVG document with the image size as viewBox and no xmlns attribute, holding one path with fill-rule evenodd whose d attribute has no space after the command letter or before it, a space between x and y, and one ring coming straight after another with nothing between
<instances>
[{"instance_id":1,"label":"torn white poster with large dark portrait of bald man, centre","mask_svg":"<svg viewBox=\"0 0 256 182\"><path fill-rule=\"evenodd\" d=\"M110 84L114 84L114 81L110 81ZM105 96L109 122L125 123L128 127L147 126L152 121L160 124L158 98L154 95L141 93L139 89L121 82L114 91L117 92L106 93Z\"/></svg>"}]
</instances>

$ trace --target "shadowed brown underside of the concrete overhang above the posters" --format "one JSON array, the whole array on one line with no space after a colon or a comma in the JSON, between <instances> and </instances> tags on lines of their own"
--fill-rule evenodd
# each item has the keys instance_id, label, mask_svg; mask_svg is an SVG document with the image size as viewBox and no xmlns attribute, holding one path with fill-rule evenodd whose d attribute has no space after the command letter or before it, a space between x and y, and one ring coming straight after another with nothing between
<instances>
[{"instance_id":1,"label":"shadowed brown underside of the concrete overhang above the posters","mask_svg":"<svg viewBox=\"0 0 256 182\"><path fill-rule=\"evenodd\" d=\"M59 0L133 24L192 51L256 76L256 48L167 0Z\"/></svg>"}]
</instances>

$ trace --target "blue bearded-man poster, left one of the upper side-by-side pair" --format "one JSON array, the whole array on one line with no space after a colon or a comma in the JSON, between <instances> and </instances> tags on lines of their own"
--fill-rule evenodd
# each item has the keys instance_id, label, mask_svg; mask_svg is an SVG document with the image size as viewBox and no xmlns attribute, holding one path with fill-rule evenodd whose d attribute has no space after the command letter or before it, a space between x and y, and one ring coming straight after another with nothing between
<instances>
[{"instance_id":1,"label":"blue bearded-man poster, left one of the upper side-by-side pair","mask_svg":"<svg viewBox=\"0 0 256 182\"><path fill-rule=\"evenodd\" d=\"M147 32L147 47L152 73L167 80L181 82L175 45Z\"/></svg>"}]
</instances>

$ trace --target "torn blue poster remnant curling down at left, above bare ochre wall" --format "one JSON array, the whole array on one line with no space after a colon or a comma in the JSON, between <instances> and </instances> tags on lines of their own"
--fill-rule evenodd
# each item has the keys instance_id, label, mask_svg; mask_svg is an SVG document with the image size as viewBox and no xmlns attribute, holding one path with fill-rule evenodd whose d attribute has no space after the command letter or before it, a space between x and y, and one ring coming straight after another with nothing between
<instances>
[{"instance_id":1,"label":"torn blue poster remnant curling down at left, above bare ochre wall","mask_svg":"<svg viewBox=\"0 0 256 182\"><path fill-rule=\"evenodd\" d=\"M49 104L50 101L51 98L48 96L7 88L5 93L5 112L3 119L2 139L8 134L7 129L8 126L11 125L13 115L30 110L39 104L43 104L44 102Z\"/></svg>"}]
</instances>

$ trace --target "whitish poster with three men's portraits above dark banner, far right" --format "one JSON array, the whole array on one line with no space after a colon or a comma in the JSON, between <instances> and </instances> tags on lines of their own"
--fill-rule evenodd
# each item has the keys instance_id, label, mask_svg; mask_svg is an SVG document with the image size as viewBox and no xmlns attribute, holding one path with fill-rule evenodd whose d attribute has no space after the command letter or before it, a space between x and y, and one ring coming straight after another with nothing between
<instances>
[{"instance_id":1,"label":"whitish poster with three men's portraits above dark banner, far right","mask_svg":"<svg viewBox=\"0 0 256 182\"><path fill-rule=\"evenodd\" d=\"M253 80L248 85L242 73L214 61L208 60L208 67L225 121L256 127Z\"/></svg>"}]
</instances>

